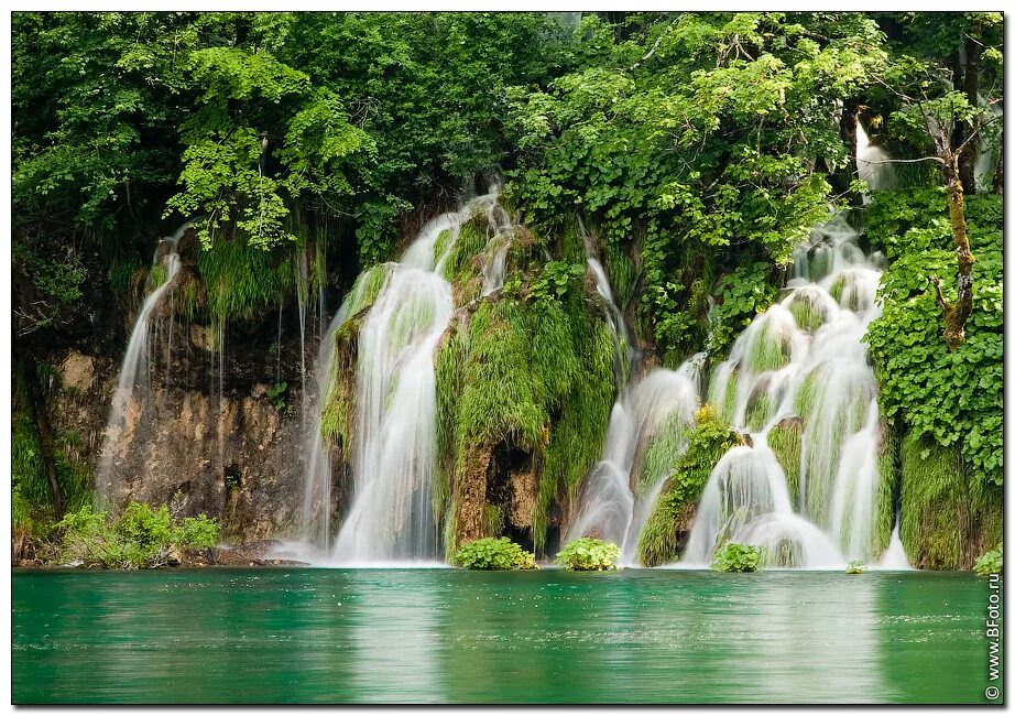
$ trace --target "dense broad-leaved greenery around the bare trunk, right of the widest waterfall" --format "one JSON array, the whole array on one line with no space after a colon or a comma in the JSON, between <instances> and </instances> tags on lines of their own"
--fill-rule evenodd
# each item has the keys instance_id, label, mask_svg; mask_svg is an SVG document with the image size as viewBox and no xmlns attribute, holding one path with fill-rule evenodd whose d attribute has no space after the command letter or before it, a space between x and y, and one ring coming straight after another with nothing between
<instances>
[{"instance_id":1,"label":"dense broad-leaved greenery around the bare trunk, right of the widest waterfall","mask_svg":"<svg viewBox=\"0 0 1015 716\"><path fill-rule=\"evenodd\" d=\"M1002 200L965 203L973 264L973 313L967 340L949 351L929 276L953 286L954 252L941 192L878 194L867 209L867 236L891 261L882 276L882 315L866 340L885 415L942 446L957 445L970 475L1003 479L1004 306ZM951 291L954 291L951 288Z\"/></svg>"}]
</instances>

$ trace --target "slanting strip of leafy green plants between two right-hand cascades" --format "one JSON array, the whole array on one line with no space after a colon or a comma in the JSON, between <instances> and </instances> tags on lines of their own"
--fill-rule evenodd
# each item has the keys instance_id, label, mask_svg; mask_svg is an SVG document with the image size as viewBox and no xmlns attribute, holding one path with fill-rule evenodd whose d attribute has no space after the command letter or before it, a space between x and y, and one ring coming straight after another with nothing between
<instances>
[{"instance_id":1,"label":"slanting strip of leafy green plants between two right-hand cascades","mask_svg":"<svg viewBox=\"0 0 1015 716\"><path fill-rule=\"evenodd\" d=\"M702 405L695 414L695 424L686 431L687 449L670 453L666 470L670 477L663 488L652 514L645 522L637 545L639 562L653 567L679 558L681 543L690 530L701 490L708 482L716 463L740 437L711 405ZM650 462L654 438L645 453Z\"/></svg>"}]
</instances>

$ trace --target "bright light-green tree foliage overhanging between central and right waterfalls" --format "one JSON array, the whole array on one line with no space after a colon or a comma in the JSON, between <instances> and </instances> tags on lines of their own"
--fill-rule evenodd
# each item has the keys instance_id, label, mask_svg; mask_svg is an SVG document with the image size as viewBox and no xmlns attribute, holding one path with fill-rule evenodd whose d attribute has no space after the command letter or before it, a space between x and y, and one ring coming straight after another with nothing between
<instances>
[{"instance_id":1,"label":"bright light-green tree foliage overhanging between central and right waterfalls","mask_svg":"<svg viewBox=\"0 0 1015 716\"><path fill-rule=\"evenodd\" d=\"M847 13L639 15L621 33L588 17L581 31L579 69L510 95L509 188L537 226L580 210L608 258L636 247L639 313L664 352L688 350L717 256L785 265L827 216L811 162L844 162L827 118L885 62L880 33Z\"/></svg>"}]
</instances>

